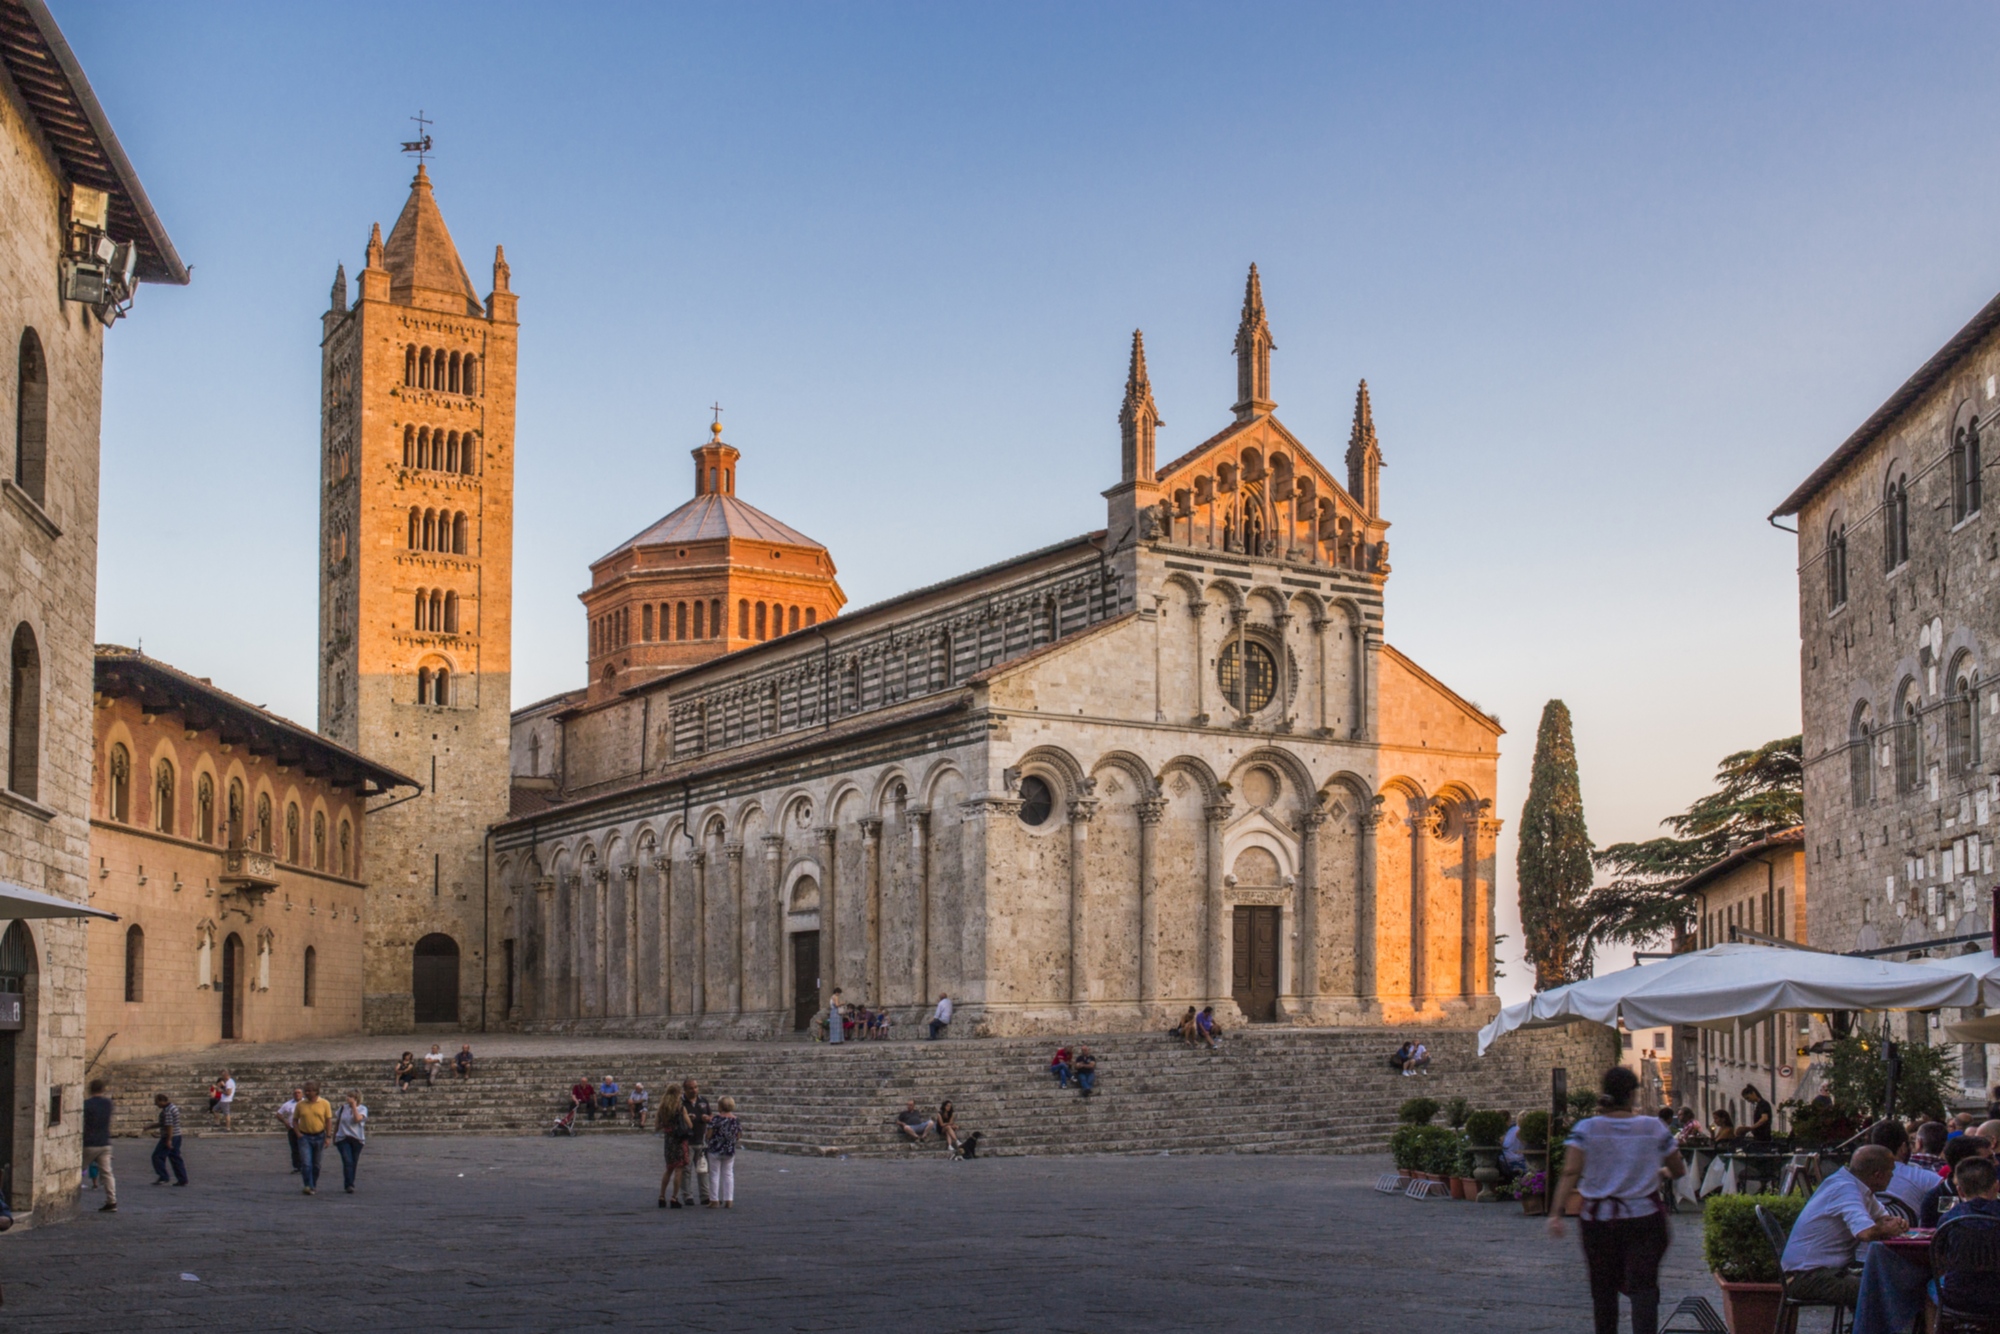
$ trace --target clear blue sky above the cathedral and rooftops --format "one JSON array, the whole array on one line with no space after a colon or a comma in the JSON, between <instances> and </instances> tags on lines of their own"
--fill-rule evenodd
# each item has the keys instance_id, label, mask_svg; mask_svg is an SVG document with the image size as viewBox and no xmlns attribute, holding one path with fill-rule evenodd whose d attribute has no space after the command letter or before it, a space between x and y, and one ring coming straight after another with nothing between
<instances>
[{"instance_id":1,"label":"clear blue sky above the cathedral and rooftops","mask_svg":"<svg viewBox=\"0 0 2000 1334\"><path fill-rule=\"evenodd\" d=\"M522 296L518 704L710 400L866 604L1102 524L1134 326L1162 456L1222 426L1256 260L1280 418L1374 390L1390 642L1510 728L1510 954L1542 702L1598 842L1794 732L1764 514L2000 288L1990 6L56 16L194 264L108 338L102 638L312 720L318 314L418 108Z\"/></svg>"}]
</instances>

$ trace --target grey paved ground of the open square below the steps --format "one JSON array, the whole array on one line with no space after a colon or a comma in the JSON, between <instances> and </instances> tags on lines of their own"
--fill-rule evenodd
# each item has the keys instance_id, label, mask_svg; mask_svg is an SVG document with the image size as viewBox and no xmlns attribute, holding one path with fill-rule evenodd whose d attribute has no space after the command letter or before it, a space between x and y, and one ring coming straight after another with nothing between
<instances>
[{"instance_id":1,"label":"grey paved ground of the open square below the steps","mask_svg":"<svg viewBox=\"0 0 2000 1334\"><path fill-rule=\"evenodd\" d=\"M650 1136L116 1146L120 1208L0 1238L6 1330L1588 1330L1576 1232L1370 1190L1380 1158L738 1158L658 1210ZM84 1208L100 1196L86 1192ZM192 1274L194 1278L186 1278ZM1668 1304L1714 1286L1674 1222Z\"/></svg>"}]
</instances>

